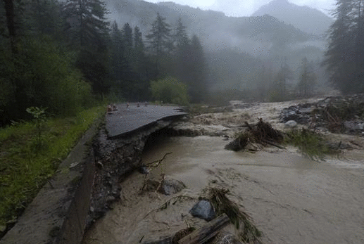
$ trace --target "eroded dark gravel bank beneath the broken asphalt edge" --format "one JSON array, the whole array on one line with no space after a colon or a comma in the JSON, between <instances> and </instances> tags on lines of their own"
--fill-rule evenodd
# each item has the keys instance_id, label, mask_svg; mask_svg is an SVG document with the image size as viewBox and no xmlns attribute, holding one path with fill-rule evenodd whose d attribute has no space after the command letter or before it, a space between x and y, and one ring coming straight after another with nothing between
<instances>
[{"instance_id":1,"label":"eroded dark gravel bank beneath the broken asphalt edge","mask_svg":"<svg viewBox=\"0 0 364 244\"><path fill-rule=\"evenodd\" d=\"M108 139L105 128L100 130L98 138L92 145L96 171L87 228L108 212L112 203L123 197L120 183L142 166L142 152L146 141L158 137L163 133L162 129L175 119L176 117L158 120L134 134L118 136L115 139Z\"/></svg>"}]
</instances>

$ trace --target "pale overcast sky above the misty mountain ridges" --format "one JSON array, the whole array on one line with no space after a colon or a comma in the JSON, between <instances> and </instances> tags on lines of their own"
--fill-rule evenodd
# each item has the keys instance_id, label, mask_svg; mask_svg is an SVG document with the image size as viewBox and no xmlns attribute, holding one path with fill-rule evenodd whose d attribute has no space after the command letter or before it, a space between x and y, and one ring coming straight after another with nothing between
<instances>
[{"instance_id":1,"label":"pale overcast sky above the misty mountain ridges","mask_svg":"<svg viewBox=\"0 0 364 244\"><path fill-rule=\"evenodd\" d=\"M161 0L146 0L151 3L158 3ZM168 1L168 0L167 0ZM194 8L211 9L221 11L227 16L250 16L264 4L271 0L170 0L177 4L189 5ZM336 0L289 0L292 4L299 6L310 6L328 14L334 8Z\"/></svg>"}]
</instances>

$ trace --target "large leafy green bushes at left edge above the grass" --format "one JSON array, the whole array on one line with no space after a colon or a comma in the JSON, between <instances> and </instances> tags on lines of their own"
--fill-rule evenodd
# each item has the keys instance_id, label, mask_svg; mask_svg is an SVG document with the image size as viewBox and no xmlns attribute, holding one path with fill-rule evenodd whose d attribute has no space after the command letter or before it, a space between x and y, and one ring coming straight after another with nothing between
<instances>
[{"instance_id":1,"label":"large leafy green bushes at left edge above the grass","mask_svg":"<svg viewBox=\"0 0 364 244\"><path fill-rule=\"evenodd\" d=\"M56 115L73 115L92 101L91 88L72 57L49 37L24 38L19 51L11 55L0 50L0 99L2 122L26 118L30 105L49 109ZM1 112L3 110L4 112ZM4 113L4 114L3 114Z\"/></svg>"}]
</instances>

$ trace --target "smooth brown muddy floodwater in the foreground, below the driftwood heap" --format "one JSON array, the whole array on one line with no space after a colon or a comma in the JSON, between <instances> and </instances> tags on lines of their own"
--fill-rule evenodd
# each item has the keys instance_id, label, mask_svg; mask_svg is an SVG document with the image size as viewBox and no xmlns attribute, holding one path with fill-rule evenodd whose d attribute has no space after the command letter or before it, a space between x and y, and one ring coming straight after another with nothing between
<instances>
[{"instance_id":1,"label":"smooth brown muddy floodwater in the foreground, below the driftwood heap","mask_svg":"<svg viewBox=\"0 0 364 244\"><path fill-rule=\"evenodd\" d=\"M257 153L225 150L220 137L163 137L144 151L152 162L172 152L164 172L187 185L166 210L155 211L171 196L139 193L144 176L135 172L122 184L122 199L96 221L84 243L143 243L203 221L188 214L208 184L230 189L229 198L263 231L263 243L364 243L364 153L315 162L295 148L265 148ZM158 179L161 169L151 172ZM152 212L151 212L152 211Z\"/></svg>"}]
</instances>

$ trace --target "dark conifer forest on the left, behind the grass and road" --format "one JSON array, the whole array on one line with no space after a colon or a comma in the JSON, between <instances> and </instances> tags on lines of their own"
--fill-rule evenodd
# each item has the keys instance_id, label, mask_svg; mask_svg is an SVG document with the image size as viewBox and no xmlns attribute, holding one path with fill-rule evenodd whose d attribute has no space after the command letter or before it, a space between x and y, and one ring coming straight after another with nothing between
<instances>
[{"instance_id":1,"label":"dark conifer forest on the left, behind the grass and road","mask_svg":"<svg viewBox=\"0 0 364 244\"><path fill-rule=\"evenodd\" d=\"M200 41L182 21L156 15L142 37L137 26L110 24L99 0L5 0L0 13L1 124L26 119L30 106L72 115L105 97L149 100L151 80L169 76L192 101L206 91Z\"/></svg>"}]
</instances>

